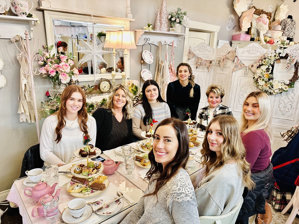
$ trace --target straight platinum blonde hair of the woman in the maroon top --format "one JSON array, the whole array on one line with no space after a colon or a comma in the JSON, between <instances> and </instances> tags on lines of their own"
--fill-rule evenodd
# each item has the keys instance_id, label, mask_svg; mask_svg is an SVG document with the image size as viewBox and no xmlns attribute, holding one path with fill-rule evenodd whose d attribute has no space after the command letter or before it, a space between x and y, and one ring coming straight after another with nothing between
<instances>
[{"instance_id":1,"label":"straight platinum blonde hair of the woman in the maroon top","mask_svg":"<svg viewBox=\"0 0 299 224\"><path fill-rule=\"evenodd\" d=\"M248 128L248 120L245 118L242 109L240 131L243 132L243 134L247 134L250 131L264 129L270 138L270 142L272 142L273 130L272 130L272 122L271 122L271 102L269 96L266 93L260 91L251 92L246 96L242 108L244 108L245 101L248 99L248 97L251 96L257 99L257 102L259 104L259 109L260 109L260 117L254 123L254 125Z\"/></svg>"}]
</instances>

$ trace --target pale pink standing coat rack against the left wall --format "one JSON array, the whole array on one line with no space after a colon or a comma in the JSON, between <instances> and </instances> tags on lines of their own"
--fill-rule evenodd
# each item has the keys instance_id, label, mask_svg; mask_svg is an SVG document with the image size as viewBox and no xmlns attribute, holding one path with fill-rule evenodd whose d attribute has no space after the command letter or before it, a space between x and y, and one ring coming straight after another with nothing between
<instances>
[{"instance_id":1,"label":"pale pink standing coat rack against the left wall","mask_svg":"<svg viewBox=\"0 0 299 224\"><path fill-rule=\"evenodd\" d=\"M33 99L33 105L34 105L34 116L35 116L35 123L36 123L36 132L37 132L37 139L38 139L38 142L39 142L39 138L40 138L40 133L39 133L39 116L38 116L38 113L37 113L37 106L36 106L36 98L35 98L35 90L38 90L37 88L37 84L36 84L36 87L34 87L34 81L33 81L33 73L35 75L39 75L39 73L36 73L36 70L33 71L33 62L35 60L37 60L37 55L36 54L32 54L31 55L31 51L30 51L30 45L29 45L29 33L28 33L28 30L25 30L25 39L26 39L26 48L27 49L24 49L24 46L21 45L21 49L16 45L16 42L15 45L16 47L18 48L18 50L20 51L20 58L23 59L25 58L25 60L27 61L27 64L28 64L28 72L25 72L26 75L29 75L30 76L30 79L31 79L31 89L29 89L31 92L32 92L32 99ZM37 48L39 46L39 39L38 39L38 45L36 46L35 48L35 39L33 39L33 52L37 52ZM26 52L27 50L27 53L24 53Z\"/></svg>"}]
</instances>

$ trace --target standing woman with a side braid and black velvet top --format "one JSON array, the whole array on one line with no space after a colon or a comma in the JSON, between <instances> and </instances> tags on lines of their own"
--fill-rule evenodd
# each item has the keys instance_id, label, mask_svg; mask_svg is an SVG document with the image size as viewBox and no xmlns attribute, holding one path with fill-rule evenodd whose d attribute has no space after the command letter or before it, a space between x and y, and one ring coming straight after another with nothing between
<instances>
[{"instance_id":1,"label":"standing woman with a side braid and black velvet top","mask_svg":"<svg viewBox=\"0 0 299 224\"><path fill-rule=\"evenodd\" d=\"M192 68L188 63L180 63L176 67L176 76L179 79L170 82L167 86L166 99L171 116L182 121L187 120L189 116L185 111L189 108L191 119L195 120L200 100L200 87L194 83Z\"/></svg>"}]
</instances>

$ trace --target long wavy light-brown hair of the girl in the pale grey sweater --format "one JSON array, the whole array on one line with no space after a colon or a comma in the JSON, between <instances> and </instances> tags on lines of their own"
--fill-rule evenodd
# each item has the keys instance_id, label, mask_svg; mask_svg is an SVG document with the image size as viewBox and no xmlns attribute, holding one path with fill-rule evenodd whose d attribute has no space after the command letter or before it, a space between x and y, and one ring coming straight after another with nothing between
<instances>
[{"instance_id":1,"label":"long wavy light-brown hair of the girl in the pale grey sweater","mask_svg":"<svg viewBox=\"0 0 299 224\"><path fill-rule=\"evenodd\" d=\"M208 130L213 123L218 122L224 140L220 146L220 156L217 157L216 152L210 150L208 142ZM221 115L214 117L207 127L204 141L202 143L202 164L206 166L205 175L209 173L212 167L221 168L229 160L234 160L242 170L242 183L248 189L254 187L254 182L251 180L250 164L246 161L246 150L243 145L239 132L239 125L236 118L229 115Z\"/></svg>"}]
</instances>

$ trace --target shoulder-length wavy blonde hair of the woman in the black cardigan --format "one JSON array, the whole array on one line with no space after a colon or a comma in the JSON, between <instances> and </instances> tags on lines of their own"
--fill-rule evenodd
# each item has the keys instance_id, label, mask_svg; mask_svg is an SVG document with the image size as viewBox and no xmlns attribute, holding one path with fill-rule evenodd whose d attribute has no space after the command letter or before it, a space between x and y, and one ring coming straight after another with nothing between
<instances>
[{"instance_id":1,"label":"shoulder-length wavy blonde hair of the woman in the black cardigan","mask_svg":"<svg viewBox=\"0 0 299 224\"><path fill-rule=\"evenodd\" d=\"M125 94L126 94L126 105L123 106L123 117L126 119L126 120L129 120L133 117L133 101L132 101L132 94L130 92L130 90L124 86L124 85L116 85L113 89L112 89L112 92L109 94L108 96L108 100L107 100L107 106L106 108L110 111L112 111L113 113L115 113L114 111L114 107L113 107L113 96L115 94L115 92L118 90L118 89L122 89Z\"/></svg>"}]
</instances>

